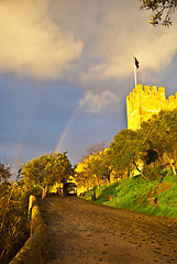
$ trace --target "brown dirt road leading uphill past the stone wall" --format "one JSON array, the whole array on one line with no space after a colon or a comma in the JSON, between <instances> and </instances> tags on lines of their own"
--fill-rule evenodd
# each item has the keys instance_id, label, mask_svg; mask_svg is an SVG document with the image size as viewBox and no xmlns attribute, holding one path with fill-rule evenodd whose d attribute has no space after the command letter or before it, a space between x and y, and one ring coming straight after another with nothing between
<instances>
[{"instance_id":1,"label":"brown dirt road leading uphill past the stone wall","mask_svg":"<svg viewBox=\"0 0 177 264\"><path fill-rule=\"evenodd\" d=\"M177 220L93 205L77 197L40 202L47 264L177 264Z\"/></svg>"}]
</instances>

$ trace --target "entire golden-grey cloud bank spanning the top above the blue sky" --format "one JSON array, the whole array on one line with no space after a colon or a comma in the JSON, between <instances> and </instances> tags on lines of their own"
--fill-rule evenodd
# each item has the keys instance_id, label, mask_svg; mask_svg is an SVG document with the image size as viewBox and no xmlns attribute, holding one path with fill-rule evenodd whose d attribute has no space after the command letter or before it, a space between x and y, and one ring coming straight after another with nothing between
<instances>
[{"instance_id":1,"label":"entire golden-grey cloud bank spanning the top above the blue sky","mask_svg":"<svg viewBox=\"0 0 177 264\"><path fill-rule=\"evenodd\" d=\"M141 73L159 73L177 52L177 23L151 26L134 0L1 0L0 13L1 73L90 88L133 76L133 53Z\"/></svg>"}]
</instances>

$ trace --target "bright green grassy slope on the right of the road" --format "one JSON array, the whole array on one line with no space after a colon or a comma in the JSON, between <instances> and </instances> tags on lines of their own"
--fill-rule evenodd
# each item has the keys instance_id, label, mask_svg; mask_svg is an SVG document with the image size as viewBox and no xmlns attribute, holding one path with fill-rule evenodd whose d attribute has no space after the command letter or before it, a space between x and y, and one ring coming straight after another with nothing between
<instances>
[{"instance_id":1,"label":"bright green grassy slope on the right of the road","mask_svg":"<svg viewBox=\"0 0 177 264\"><path fill-rule=\"evenodd\" d=\"M96 190L95 202L117 208L177 218L177 175L163 172L162 180L147 182L141 176L126 178ZM90 199L92 190L86 194Z\"/></svg>"}]
</instances>

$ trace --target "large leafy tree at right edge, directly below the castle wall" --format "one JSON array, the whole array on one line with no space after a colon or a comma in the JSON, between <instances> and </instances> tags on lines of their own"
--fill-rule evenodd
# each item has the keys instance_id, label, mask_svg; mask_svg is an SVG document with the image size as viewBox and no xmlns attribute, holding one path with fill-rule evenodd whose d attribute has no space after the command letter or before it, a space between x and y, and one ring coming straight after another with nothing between
<instances>
[{"instance_id":1,"label":"large leafy tree at right edge, directly below the castle wall","mask_svg":"<svg viewBox=\"0 0 177 264\"><path fill-rule=\"evenodd\" d=\"M144 122L141 131L142 136L146 138L150 143L148 152L151 151L151 154L154 152L151 158L155 158L154 162L157 161L162 167L169 164L173 173L176 174L177 109L173 111L162 110L157 116Z\"/></svg>"}]
</instances>

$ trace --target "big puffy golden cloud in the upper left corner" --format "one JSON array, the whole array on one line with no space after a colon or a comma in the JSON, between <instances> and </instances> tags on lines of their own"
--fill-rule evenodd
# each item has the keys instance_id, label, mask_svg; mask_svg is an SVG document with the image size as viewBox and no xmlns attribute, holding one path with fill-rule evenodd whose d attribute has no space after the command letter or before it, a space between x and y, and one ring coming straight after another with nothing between
<instances>
[{"instance_id":1,"label":"big puffy golden cloud in the upper left corner","mask_svg":"<svg viewBox=\"0 0 177 264\"><path fill-rule=\"evenodd\" d=\"M0 1L0 72L58 78L84 44L48 14L49 0Z\"/></svg>"}]
</instances>

